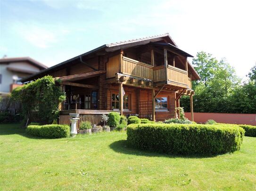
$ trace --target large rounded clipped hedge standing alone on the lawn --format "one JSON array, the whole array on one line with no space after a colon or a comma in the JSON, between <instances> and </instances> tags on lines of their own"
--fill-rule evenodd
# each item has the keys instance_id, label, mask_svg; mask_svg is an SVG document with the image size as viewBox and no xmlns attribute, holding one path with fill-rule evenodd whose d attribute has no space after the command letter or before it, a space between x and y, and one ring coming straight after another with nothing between
<instances>
[{"instance_id":1,"label":"large rounded clipped hedge standing alone on the lawn","mask_svg":"<svg viewBox=\"0 0 256 191\"><path fill-rule=\"evenodd\" d=\"M131 124L129 145L175 154L221 154L240 149L244 130L238 126L204 124Z\"/></svg>"}]
</instances>

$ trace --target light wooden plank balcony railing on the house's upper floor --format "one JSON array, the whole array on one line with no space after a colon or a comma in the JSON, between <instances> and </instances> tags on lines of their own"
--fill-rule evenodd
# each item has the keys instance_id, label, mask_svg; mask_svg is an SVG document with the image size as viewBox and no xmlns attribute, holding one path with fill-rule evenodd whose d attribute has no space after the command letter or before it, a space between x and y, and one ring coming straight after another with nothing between
<instances>
[{"instance_id":1,"label":"light wooden plank balcony railing on the house's upper floor","mask_svg":"<svg viewBox=\"0 0 256 191\"><path fill-rule=\"evenodd\" d=\"M167 65L166 68L164 65L153 67L149 64L122 56L122 54L109 58L107 63L107 78L115 77L117 73L150 80L153 83L165 82L166 84L177 87L192 88L191 79L188 77L186 70L171 65ZM120 75L118 76L120 77Z\"/></svg>"}]
</instances>

